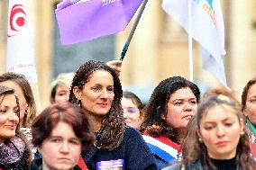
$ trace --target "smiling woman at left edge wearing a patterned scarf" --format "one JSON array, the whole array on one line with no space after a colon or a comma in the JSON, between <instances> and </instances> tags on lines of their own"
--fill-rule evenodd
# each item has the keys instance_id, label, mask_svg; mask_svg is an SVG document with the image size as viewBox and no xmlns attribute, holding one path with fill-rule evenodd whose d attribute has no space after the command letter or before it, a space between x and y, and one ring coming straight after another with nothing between
<instances>
[{"instance_id":1,"label":"smiling woman at left edge wearing a patterned scarf","mask_svg":"<svg viewBox=\"0 0 256 170\"><path fill-rule=\"evenodd\" d=\"M32 154L19 130L20 107L14 89L0 86L0 169L26 170Z\"/></svg>"}]
</instances>

